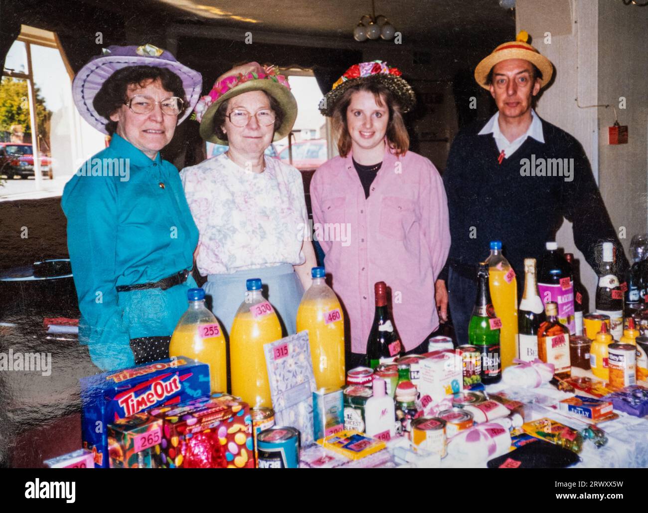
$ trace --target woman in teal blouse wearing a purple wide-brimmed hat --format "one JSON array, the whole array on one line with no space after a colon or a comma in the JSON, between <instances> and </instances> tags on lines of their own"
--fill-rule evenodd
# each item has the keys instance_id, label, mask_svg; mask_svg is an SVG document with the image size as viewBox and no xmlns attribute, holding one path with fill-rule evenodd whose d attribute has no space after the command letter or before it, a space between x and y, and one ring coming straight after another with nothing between
<instances>
[{"instance_id":1,"label":"woman in teal blouse wearing a purple wide-brimmed hat","mask_svg":"<svg viewBox=\"0 0 648 513\"><path fill-rule=\"evenodd\" d=\"M111 46L76 74L76 107L111 136L65 185L80 343L104 371L168 357L187 308L198 229L178 170L159 152L202 76L153 45Z\"/></svg>"}]
</instances>

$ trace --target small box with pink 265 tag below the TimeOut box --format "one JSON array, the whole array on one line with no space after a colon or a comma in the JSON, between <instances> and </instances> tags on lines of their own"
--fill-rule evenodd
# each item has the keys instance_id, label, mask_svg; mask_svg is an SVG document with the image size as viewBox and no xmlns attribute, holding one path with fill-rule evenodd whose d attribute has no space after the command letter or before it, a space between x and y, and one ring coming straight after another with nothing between
<instances>
[{"instance_id":1,"label":"small box with pink 265 tag below the TimeOut box","mask_svg":"<svg viewBox=\"0 0 648 513\"><path fill-rule=\"evenodd\" d=\"M162 441L162 420L135 413L108 426L110 468L156 468Z\"/></svg>"}]
</instances>

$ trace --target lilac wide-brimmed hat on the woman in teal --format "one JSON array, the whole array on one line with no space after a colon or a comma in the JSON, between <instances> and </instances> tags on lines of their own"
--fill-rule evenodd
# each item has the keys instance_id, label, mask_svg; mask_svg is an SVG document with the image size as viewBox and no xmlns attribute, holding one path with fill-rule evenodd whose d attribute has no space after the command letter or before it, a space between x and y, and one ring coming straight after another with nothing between
<instances>
[{"instance_id":1,"label":"lilac wide-brimmed hat on the woman in teal","mask_svg":"<svg viewBox=\"0 0 648 513\"><path fill-rule=\"evenodd\" d=\"M202 75L198 71L179 63L170 52L154 45L139 47L113 45L104 48L101 55L91 58L76 74L72 82L72 96L76 108L82 117L98 131L108 133L106 131L108 119L95 110L92 102L108 77L126 66L158 66L173 71L182 80L185 97L189 102L182 117L178 119L178 124L191 114L202 90Z\"/></svg>"}]
</instances>

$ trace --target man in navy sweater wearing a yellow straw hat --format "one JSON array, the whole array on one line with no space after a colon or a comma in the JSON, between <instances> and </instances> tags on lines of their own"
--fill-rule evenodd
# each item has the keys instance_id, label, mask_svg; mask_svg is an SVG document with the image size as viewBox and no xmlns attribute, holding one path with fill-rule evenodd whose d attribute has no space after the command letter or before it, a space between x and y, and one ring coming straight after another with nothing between
<instances>
[{"instance_id":1,"label":"man in navy sweater wearing a yellow straw hat","mask_svg":"<svg viewBox=\"0 0 648 513\"><path fill-rule=\"evenodd\" d=\"M498 112L459 131L443 176L452 245L436 298L442 320L449 300L459 344L468 343L476 264L489 255L491 240L502 241L520 297L524 258L540 264L563 217L573 223L574 242L595 271L604 240L616 245L621 271L627 266L581 144L531 108L553 65L526 40L520 32L476 67L475 79L491 92Z\"/></svg>"}]
</instances>

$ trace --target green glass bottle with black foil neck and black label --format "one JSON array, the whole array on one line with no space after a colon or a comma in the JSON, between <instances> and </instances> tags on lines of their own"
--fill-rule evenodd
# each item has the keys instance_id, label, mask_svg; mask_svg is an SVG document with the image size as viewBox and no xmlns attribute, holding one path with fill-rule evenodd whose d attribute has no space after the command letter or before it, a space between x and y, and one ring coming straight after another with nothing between
<instances>
[{"instance_id":1,"label":"green glass bottle with black foil neck and black label","mask_svg":"<svg viewBox=\"0 0 648 513\"><path fill-rule=\"evenodd\" d=\"M477 271L478 289L475 306L468 326L468 341L481 353L481 382L485 385L502 379L500 359L500 328L502 321L495 315L489 291L488 264L481 262Z\"/></svg>"}]
</instances>

